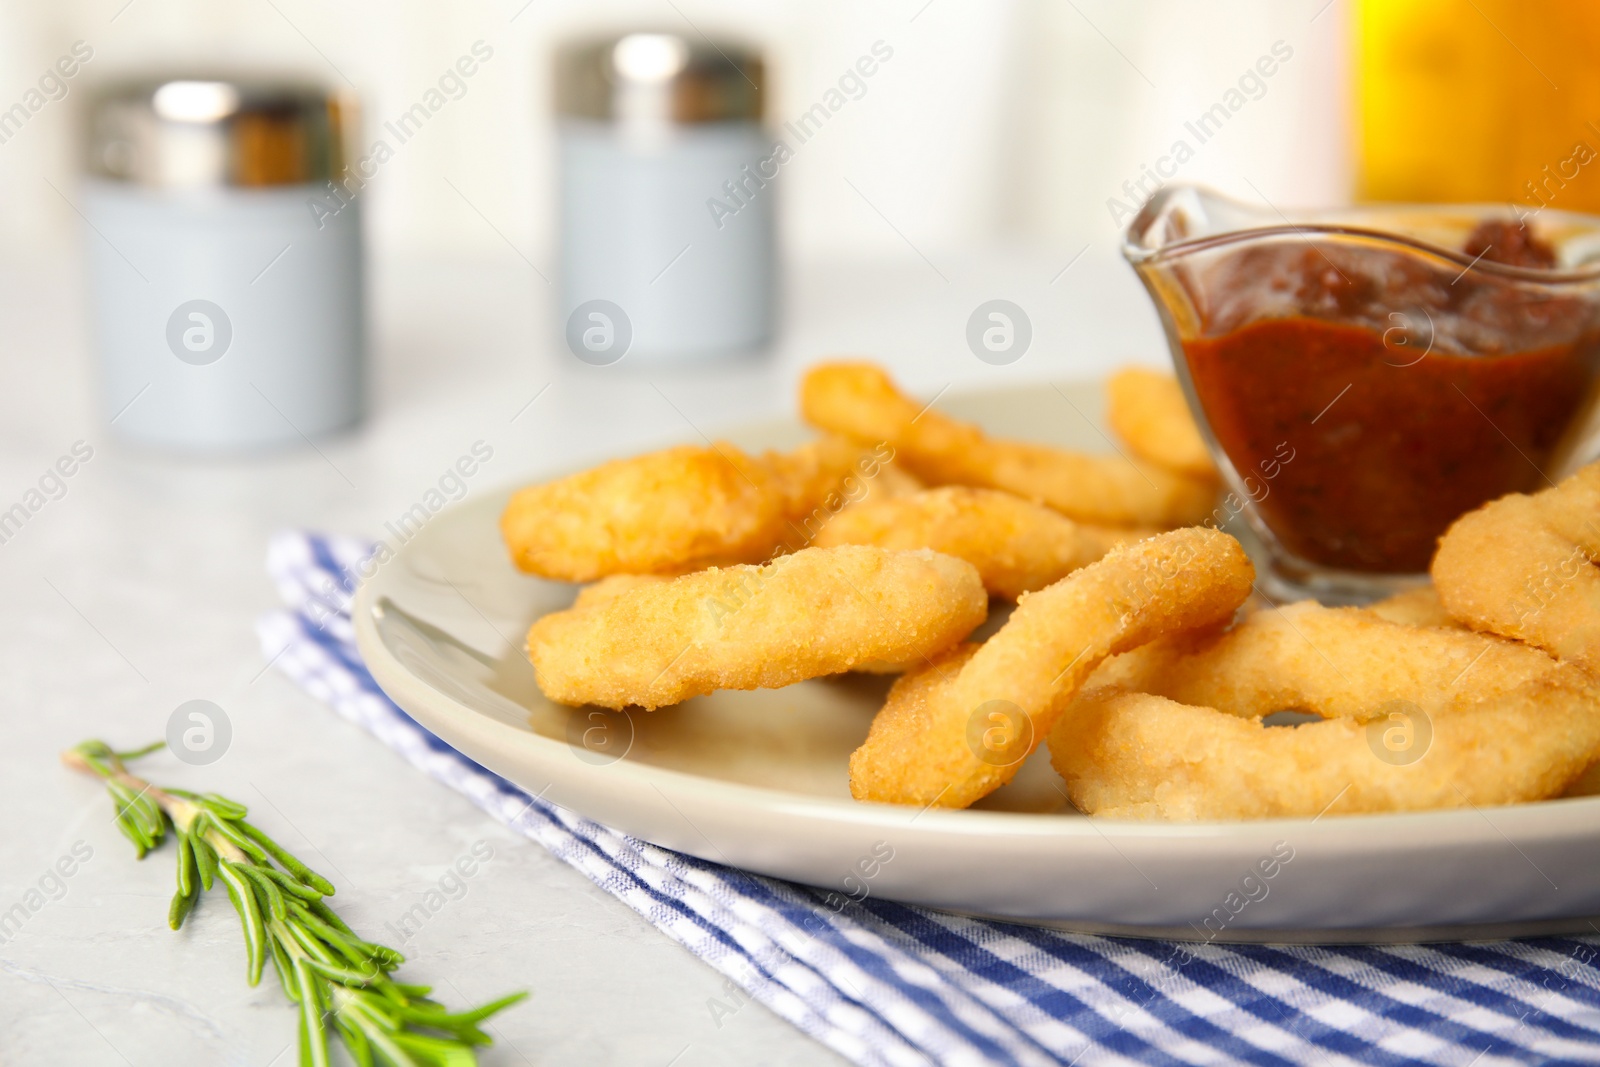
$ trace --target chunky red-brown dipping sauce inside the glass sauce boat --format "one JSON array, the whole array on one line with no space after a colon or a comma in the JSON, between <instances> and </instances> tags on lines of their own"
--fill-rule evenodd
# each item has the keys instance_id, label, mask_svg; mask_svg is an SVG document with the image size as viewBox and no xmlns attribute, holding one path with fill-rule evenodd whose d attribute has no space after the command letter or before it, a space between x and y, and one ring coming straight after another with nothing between
<instances>
[{"instance_id":1,"label":"chunky red-brown dipping sauce inside the glass sauce boat","mask_svg":"<svg viewBox=\"0 0 1600 1067\"><path fill-rule=\"evenodd\" d=\"M1555 262L1510 222L1466 246ZM1459 515L1547 485L1600 366L1590 299L1451 282L1406 253L1256 246L1189 290L1202 330L1182 347L1211 432L1283 547L1339 569L1426 571Z\"/></svg>"}]
</instances>

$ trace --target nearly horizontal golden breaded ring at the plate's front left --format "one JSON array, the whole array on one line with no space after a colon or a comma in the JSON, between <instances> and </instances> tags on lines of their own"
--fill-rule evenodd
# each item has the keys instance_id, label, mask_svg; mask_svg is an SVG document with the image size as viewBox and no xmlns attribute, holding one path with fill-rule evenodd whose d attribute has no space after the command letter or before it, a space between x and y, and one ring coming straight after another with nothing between
<instances>
[{"instance_id":1,"label":"nearly horizontal golden breaded ring at the plate's front left","mask_svg":"<svg viewBox=\"0 0 1600 1067\"><path fill-rule=\"evenodd\" d=\"M989 609L971 563L866 545L611 584L528 630L528 659L552 701L654 709L912 662L960 641Z\"/></svg>"}]
</instances>

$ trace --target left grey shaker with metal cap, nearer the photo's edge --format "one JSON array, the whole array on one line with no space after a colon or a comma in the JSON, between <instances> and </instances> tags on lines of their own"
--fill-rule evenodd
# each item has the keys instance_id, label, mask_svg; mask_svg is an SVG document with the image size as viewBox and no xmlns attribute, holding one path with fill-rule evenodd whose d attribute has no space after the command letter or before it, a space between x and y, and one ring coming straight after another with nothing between
<instances>
[{"instance_id":1,"label":"left grey shaker with metal cap, nearer the photo's edge","mask_svg":"<svg viewBox=\"0 0 1600 1067\"><path fill-rule=\"evenodd\" d=\"M80 211L122 438L246 451L360 421L352 123L347 99L294 80L147 78L93 99Z\"/></svg>"}]
</instances>

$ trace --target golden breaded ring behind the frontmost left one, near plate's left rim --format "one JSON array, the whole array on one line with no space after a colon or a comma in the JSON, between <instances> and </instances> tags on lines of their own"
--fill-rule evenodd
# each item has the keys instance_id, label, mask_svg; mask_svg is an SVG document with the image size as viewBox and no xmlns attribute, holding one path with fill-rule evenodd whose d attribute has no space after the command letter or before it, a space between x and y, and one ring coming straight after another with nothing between
<instances>
[{"instance_id":1,"label":"golden breaded ring behind the frontmost left one, near plate's left rim","mask_svg":"<svg viewBox=\"0 0 1600 1067\"><path fill-rule=\"evenodd\" d=\"M766 560L864 462L837 437L758 458L680 445L520 490L501 536L518 568L566 582Z\"/></svg>"}]
</instances>

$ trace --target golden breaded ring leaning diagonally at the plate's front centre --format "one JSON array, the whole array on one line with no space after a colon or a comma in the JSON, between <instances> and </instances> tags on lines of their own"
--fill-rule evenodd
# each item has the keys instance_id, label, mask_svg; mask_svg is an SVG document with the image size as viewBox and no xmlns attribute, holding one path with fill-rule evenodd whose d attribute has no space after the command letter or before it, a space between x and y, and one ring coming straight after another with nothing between
<instances>
[{"instance_id":1,"label":"golden breaded ring leaning diagonally at the plate's front centre","mask_svg":"<svg viewBox=\"0 0 1600 1067\"><path fill-rule=\"evenodd\" d=\"M970 657L896 683L850 757L851 793L965 808L1016 774L1102 659L1232 617L1253 581L1237 541L1194 528L1122 545L1027 593Z\"/></svg>"}]
</instances>

